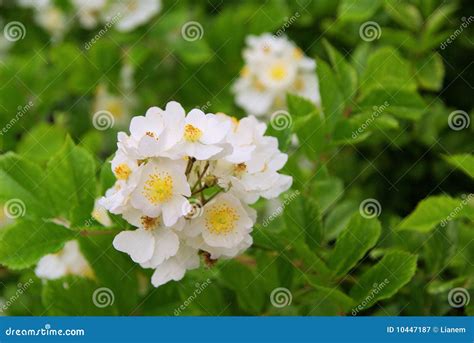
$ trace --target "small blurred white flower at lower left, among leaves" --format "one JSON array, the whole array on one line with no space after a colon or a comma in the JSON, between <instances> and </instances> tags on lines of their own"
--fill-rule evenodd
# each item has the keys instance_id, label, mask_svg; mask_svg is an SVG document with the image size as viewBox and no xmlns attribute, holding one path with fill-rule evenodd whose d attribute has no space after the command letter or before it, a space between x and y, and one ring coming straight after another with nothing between
<instances>
[{"instance_id":1,"label":"small blurred white flower at lower left, among leaves","mask_svg":"<svg viewBox=\"0 0 474 343\"><path fill-rule=\"evenodd\" d=\"M92 269L79 250L77 241L67 242L56 254L43 256L36 266L35 274L47 280L59 279L67 275L93 277Z\"/></svg>"}]
</instances>

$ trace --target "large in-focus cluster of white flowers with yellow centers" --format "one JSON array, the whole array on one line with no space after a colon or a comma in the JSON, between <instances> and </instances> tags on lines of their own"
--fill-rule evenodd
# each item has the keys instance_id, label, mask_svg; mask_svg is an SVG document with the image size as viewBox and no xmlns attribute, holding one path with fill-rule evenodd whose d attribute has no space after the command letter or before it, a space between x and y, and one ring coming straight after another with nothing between
<instances>
[{"instance_id":1,"label":"large in-focus cluster of white flowers with yellow centers","mask_svg":"<svg viewBox=\"0 0 474 343\"><path fill-rule=\"evenodd\" d=\"M292 178L279 174L288 156L255 117L237 120L177 102L134 117L118 134L111 161L117 179L99 203L135 230L114 247L144 268L158 287L197 268L199 254L232 258L252 244L250 204L275 198Z\"/></svg>"}]
</instances>

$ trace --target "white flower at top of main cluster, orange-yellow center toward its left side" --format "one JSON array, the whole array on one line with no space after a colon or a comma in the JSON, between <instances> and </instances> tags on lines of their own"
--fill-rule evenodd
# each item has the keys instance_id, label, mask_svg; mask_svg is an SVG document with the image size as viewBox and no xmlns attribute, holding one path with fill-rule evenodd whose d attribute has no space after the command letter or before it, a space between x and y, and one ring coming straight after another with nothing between
<instances>
[{"instance_id":1,"label":"white flower at top of main cluster, orange-yellow center toward its left side","mask_svg":"<svg viewBox=\"0 0 474 343\"><path fill-rule=\"evenodd\" d=\"M183 136L173 149L174 155L210 159L224 149L221 143L230 126L230 122L219 120L214 114L191 110L184 119Z\"/></svg>"}]
</instances>

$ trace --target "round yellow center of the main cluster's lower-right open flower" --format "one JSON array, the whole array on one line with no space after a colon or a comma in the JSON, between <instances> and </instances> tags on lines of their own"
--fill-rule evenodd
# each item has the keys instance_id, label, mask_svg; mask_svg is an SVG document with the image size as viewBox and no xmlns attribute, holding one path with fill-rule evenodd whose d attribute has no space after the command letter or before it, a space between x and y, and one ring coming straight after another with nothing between
<instances>
[{"instance_id":1,"label":"round yellow center of the main cluster's lower-right open flower","mask_svg":"<svg viewBox=\"0 0 474 343\"><path fill-rule=\"evenodd\" d=\"M233 207L227 204L214 205L206 211L206 227L216 235L232 232L237 220L239 220L239 215Z\"/></svg>"}]
</instances>

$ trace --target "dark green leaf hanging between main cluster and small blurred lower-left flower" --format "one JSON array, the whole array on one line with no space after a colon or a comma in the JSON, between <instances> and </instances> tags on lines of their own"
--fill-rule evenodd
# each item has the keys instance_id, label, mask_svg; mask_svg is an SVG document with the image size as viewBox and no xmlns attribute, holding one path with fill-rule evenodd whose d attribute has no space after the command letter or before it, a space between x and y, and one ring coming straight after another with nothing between
<instances>
[{"instance_id":1,"label":"dark green leaf hanging between main cluster and small blurred lower-left flower","mask_svg":"<svg viewBox=\"0 0 474 343\"><path fill-rule=\"evenodd\" d=\"M81 251L94 270L100 286L115 294L117 308L123 315L130 315L138 302L138 281L135 268L128 255L115 250L114 235L81 237Z\"/></svg>"}]
</instances>

